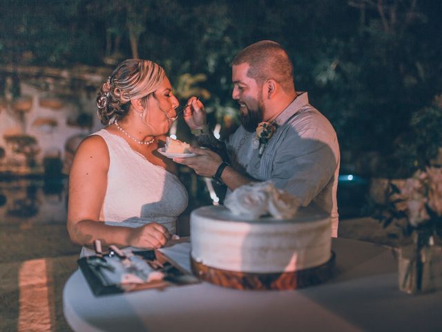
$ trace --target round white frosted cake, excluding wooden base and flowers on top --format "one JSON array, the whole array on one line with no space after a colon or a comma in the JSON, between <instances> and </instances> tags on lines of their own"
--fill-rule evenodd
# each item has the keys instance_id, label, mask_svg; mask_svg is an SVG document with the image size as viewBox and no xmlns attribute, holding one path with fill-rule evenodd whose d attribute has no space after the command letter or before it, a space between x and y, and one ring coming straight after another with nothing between
<instances>
[{"instance_id":1,"label":"round white frosted cake, excluding wooden base and flowers on top","mask_svg":"<svg viewBox=\"0 0 442 332\"><path fill-rule=\"evenodd\" d=\"M331 234L329 216L313 208L300 208L291 220L250 221L222 206L206 206L191 214L191 255L222 270L293 272L327 262Z\"/></svg>"}]
</instances>

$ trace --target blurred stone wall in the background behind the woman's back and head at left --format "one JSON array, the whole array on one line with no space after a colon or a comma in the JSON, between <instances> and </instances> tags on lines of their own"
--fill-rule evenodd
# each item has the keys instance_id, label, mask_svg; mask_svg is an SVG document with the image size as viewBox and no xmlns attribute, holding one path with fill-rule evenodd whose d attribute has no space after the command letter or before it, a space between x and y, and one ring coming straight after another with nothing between
<instances>
[{"instance_id":1,"label":"blurred stone wall in the background behind the woman's back and head at left","mask_svg":"<svg viewBox=\"0 0 442 332\"><path fill-rule=\"evenodd\" d=\"M67 174L81 139L102 128L95 98L109 73L0 67L0 176Z\"/></svg>"}]
</instances>

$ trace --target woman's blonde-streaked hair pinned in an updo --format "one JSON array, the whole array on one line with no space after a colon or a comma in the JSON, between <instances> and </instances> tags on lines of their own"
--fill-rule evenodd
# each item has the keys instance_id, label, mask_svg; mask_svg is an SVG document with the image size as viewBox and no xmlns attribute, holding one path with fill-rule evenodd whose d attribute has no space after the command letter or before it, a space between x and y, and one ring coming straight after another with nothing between
<instances>
[{"instance_id":1,"label":"woman's blonde-streaked hair pinned in an updo","mask_svg":"<svg viewBox=\"0 0 442 332\"><path fill-rule=\"evenodd\" d=\"M149 60L127 59L115 68L97 96L97 113L102 124L111 124L126 116L130 101L148 97L155 92L165 77L164 69Z\"/></svg>"}]
</instances>

